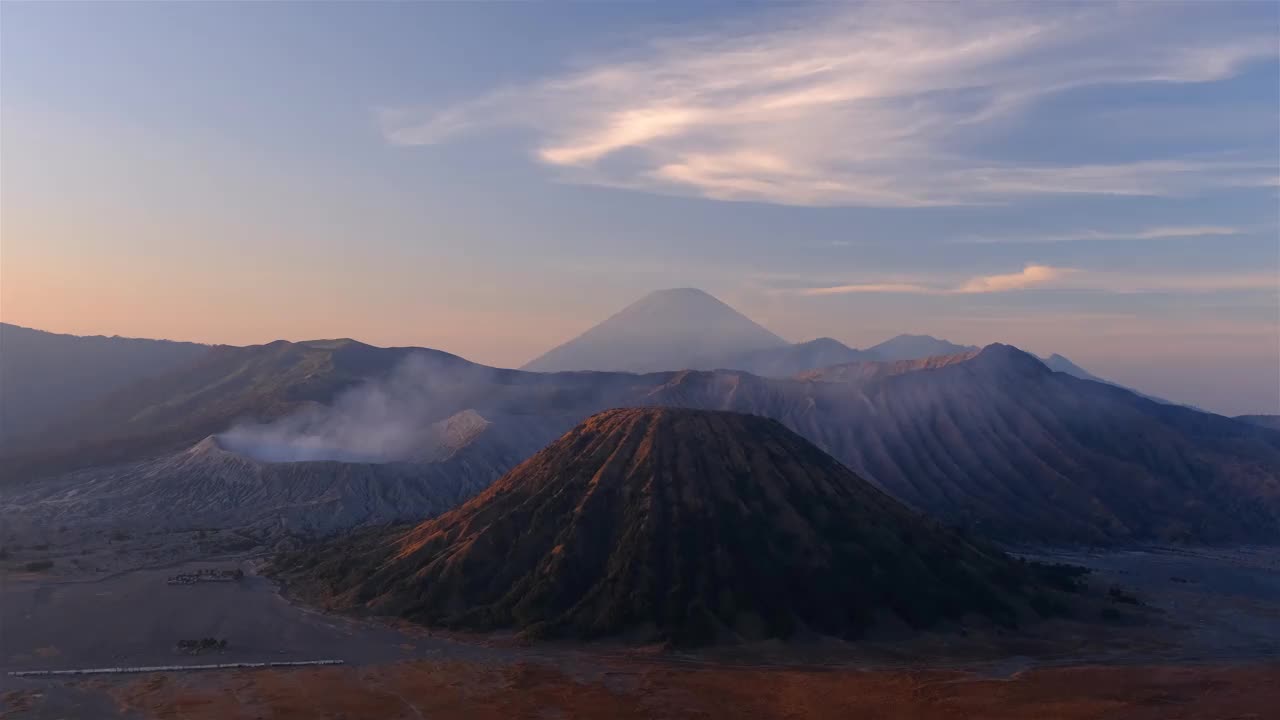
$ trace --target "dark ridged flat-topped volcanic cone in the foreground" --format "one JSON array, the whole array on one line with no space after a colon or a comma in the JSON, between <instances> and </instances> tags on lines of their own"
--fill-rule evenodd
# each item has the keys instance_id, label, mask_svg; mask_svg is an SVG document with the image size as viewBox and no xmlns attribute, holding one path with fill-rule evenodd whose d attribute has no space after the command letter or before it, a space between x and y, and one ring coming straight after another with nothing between
<instances>
[{"instance_id":1,"label":"dark ridged flat-topped volcanic cone in the foreground","mask_svg":"<svg viewBox=\"0 0 1280 720\"><path fill-rule=\"evenodd\" d=\"M595 415L457 510L278 569L335 607L681 644L1007 624L1044 592L777 421L672 409Z\"/></svg>"}]
</instances>

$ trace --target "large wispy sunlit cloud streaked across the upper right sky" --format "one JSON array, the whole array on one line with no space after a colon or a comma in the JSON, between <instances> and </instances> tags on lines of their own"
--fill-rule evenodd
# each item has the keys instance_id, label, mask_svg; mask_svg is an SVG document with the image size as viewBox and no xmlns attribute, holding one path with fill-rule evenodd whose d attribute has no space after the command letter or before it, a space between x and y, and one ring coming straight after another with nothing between
<instances>
[{"instance_id":1,"label":"large wispy sunlit cloud streaked across the upper right sky","mask_svg":"<svg viewBox=\"0 0 1280 720\"><path fill-rule=\"evenodd\" d=\"M1204 83L1275 59L1272 28L1167 4L869 4L774 10L445 108L388 109L433 145L532 128L571 182L792 205L924 206L1046 193L1265 186L1272 158L996 161L979 147L1036 102L1120 83ZM1221 19L1224 15L1216 15ZM1213 19L1213 18L1211 18Z\"/></svg>"}]
</instances>

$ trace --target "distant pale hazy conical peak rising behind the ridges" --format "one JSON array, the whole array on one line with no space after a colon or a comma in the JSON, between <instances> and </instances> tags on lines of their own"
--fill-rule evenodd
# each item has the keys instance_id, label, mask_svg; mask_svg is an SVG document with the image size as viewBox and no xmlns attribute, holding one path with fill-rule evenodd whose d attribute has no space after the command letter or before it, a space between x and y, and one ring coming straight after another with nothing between
<instances>
[{"instance_id":1,"label":"distant pale hazy conical peak rising behind the ridges","mask_svg":"<svg viewBox=\"0 0 1280 720\"><path fill-rule=\"evenodd\" d=\"M710 369L726 357L787 347L787 342L710 295L694 288L646 295L522 369Z\"/></svg>"}]
</instances>

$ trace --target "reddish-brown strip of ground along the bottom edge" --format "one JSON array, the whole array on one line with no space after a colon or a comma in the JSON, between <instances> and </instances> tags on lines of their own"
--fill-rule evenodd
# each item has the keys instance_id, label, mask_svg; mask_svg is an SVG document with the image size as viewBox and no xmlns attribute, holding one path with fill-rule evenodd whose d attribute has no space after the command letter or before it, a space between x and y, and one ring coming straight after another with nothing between
<instances>
[{"instance_id":1,"label":"reddish-brown strip of ground along the bottom edge","mask_svg":"<svg viewBox=\"0 0 1280 720\"><path fill-rule=\"evenodd\" d=\"M686 667L599 661L413 661L371 667L148 675L69 683L146 720L1198 720L1266 719L1280 665L1044 667L1009 678L951 670ZM3 717L45 696L13 692ZM104 710L108 706L104 706Z\"/></svg>"}]
</instances>

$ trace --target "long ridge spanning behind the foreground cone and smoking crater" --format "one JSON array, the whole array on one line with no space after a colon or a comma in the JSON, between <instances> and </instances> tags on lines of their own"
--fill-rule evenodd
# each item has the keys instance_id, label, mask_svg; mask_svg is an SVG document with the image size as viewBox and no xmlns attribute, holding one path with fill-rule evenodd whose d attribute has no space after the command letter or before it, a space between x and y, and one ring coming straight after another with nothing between
<instances>
[{"instance_id":1,"label":"long ridge spanning behind the foreground cone and smoking crater","mask_svg":"<svg viewBox=\"0 0 1280 720\"><path fill-rule=\"evenodd\" d=\"M0 468L6 482L20 482L133 462L233 427L250 434L229 437L288 450L260 455L266 460L404 461L415 432L463 410L490 421L490 437L531 452L594 413L625 406L774 418L896 498L1001 539L1280 538L1280 434L1053 373L1007 346L791 379L524 373L349 341L218 348L45 438L64 446L5 457ZM399 439L390 447L384 437ZM293 454L300 446L307 450Z\"/></svg>"}]
</instances>

